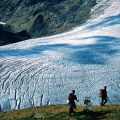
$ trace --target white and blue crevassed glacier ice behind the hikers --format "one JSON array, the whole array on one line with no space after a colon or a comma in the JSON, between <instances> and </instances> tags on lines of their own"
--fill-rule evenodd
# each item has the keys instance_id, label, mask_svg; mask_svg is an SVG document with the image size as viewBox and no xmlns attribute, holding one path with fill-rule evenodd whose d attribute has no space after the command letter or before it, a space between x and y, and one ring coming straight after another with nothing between
<instances>
[{"instance_id":1,"label":"white and blue crevassed glacier ice behind the hikers","mask_svg":"<svg viewBox=\"0 0 120 120\"><path fill-rule=\"evenodd\" d=\"M78 104L90 96L100 105L104 85L108 104L120 103L120 1L104 3L102 14L69 32L0 47L1 111L66 104L72 89Z\"/></svg>"}]
</instances>

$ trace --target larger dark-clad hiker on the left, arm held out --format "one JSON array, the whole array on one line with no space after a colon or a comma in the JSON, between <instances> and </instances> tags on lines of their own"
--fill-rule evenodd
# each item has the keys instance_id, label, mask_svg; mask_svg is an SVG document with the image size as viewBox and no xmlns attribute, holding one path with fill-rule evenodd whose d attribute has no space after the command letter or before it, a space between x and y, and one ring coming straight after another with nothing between
<instances>
[{"instance_id":1,"label":"larger dark-clad hiker on the left, arm held out","mask_svg":"<svg viewBox=\"0 0 120 120\"><path fill-rule=\"evenodd\" d=\"M69 96L68 96L69 116L71 116L71 114L74 112L74 111L73 111L73 108L76 109L75 100L76 100L77 102L79 102L79 101L77 100L76 95L75 95L75 90L72 90L72 93L70 93Z\"/></svg>"}]
</instances>

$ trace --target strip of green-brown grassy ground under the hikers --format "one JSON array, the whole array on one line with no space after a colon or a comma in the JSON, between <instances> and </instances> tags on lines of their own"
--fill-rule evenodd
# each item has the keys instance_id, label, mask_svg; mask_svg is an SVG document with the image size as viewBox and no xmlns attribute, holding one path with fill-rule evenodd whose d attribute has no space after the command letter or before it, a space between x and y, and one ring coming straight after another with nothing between
<instances>
[{"instance_id":1,"label":"strip of green-brown grassy ground under the hikers","mask_svg":"<svg viewBox=\"0 0 120 120\"><path fill-rule=\"evenodd\" d=\"M0 112L0 120L120 120L120 105L93 106L84 113L85 106L77 106L75 113L68 116L69 106L50 105Z\"/></svg>"}]
</instances>

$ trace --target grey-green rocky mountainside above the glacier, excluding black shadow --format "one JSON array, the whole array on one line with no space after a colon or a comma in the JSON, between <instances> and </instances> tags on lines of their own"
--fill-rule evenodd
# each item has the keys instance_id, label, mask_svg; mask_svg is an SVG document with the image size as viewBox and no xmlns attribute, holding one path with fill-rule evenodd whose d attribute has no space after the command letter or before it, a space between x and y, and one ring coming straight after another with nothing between
<instances>
[{"instance_id":1,"label":"grey-green rocky mountainside above the glacier, excluding black shadow","mask_svg":"<svg viewBox=\"0 0 120 120\"><path fill-rule=\"evenodd\" d=\"M0 0L0 21L32 38L62 33L84 23L96 0Z\"/></svg>"}]
</instances>

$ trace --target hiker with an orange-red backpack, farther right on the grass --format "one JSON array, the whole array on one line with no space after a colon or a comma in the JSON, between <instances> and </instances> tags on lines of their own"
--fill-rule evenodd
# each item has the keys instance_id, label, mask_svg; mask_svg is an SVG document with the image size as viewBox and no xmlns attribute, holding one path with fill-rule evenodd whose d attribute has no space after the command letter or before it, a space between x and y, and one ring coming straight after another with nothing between
<instances>
[{"instance_id":1,"label":"hiker with an orange-red backpack, farther right on the grass","mask_svg":"<svg viewBox=\"0 0 120 120\"><path fill-rule=\"evenodd\" d=\"M101 90L101 106L104 106L107 101L108 101L108 96L107 96L107 91L106 91L107 87L104 86L104 89Z\"/></svg>"}]
</instances>

